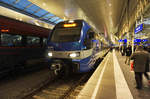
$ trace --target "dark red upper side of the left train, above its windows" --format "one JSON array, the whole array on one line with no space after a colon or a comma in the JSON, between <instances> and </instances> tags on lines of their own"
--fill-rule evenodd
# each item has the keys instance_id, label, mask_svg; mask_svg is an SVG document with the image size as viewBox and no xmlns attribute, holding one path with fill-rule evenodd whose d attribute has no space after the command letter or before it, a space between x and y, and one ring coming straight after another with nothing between
<instances>
[{"instance_id":1,"label":"dark red upper side of the left train, above its windows","mask_svg":"<svg viewBox=\"0 0 150 99\"><path fill-rule=\"evenodd\" d=\"M0 16L0 33L48 37L50 32L51 29Z\"/></svg>"}]
</instances>

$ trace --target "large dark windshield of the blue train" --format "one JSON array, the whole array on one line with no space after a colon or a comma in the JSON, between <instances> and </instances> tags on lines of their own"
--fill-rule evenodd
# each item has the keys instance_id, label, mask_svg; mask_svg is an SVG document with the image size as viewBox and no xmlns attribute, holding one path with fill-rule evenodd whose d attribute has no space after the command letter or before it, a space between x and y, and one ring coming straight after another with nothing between
<instances>
[{"instance_id":1,"label":"large dark windshield of the blue train","mask_svg":"<svg viewBox=\"0 0 150 99\"><path fill-rule=\"evenodd\" d=\"M75 42L80 39L80 27L56 28L53 31L51 42Z\"/></svg>"}]
</instances>

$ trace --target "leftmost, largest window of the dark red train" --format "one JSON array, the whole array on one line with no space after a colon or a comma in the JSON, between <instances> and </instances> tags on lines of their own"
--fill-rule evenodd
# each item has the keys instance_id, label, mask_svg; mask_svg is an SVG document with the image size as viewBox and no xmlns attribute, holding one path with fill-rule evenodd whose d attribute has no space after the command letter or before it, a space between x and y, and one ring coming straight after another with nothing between
<instances>
[{"instance_id":1,"label":"leftmost, largest window of the dark red train","mask_svg":"<svg viewBox=\"0 0 150 99\"><path fill-rule=\"evenodd\" d=\"M1 34L1 46L21 46L21 35Z\"/></svg>"}]
</instances>

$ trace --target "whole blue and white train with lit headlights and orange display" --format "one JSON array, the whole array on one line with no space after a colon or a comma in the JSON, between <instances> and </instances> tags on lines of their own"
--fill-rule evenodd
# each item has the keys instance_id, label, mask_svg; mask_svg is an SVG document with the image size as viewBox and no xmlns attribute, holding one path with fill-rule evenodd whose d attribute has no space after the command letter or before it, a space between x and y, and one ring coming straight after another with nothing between
<instances>
[{"instance_id":1,"label":"whole blue and white train with lit headlights and orange display","mask_svg":"<svg viewBox=\"0 0 150 99\"><path fill-rule=\"evenodd\" d=\"M85 21L60 22L47 42L49 68L56 75L88 72L106 54L102 46L98 34Z\"/></svg>"}]
</instances>

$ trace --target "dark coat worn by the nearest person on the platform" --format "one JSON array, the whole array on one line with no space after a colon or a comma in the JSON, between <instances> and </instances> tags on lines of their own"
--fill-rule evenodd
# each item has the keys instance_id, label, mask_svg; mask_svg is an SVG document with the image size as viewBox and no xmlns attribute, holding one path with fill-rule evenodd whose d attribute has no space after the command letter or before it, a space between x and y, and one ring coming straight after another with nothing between
<instances>
[{"instance_id":1,"label":"dark coat worn by the nearest person on the platform","mask_svg":"<svg viewBox=\"0 0 150 99\"><path fill-rule=\"evenodd\" d=\"M149 71L149 56L146 51L136 51L131 55L131 60L134 60L135 72L148 72Z\"/></svg>"}]
</instances>

